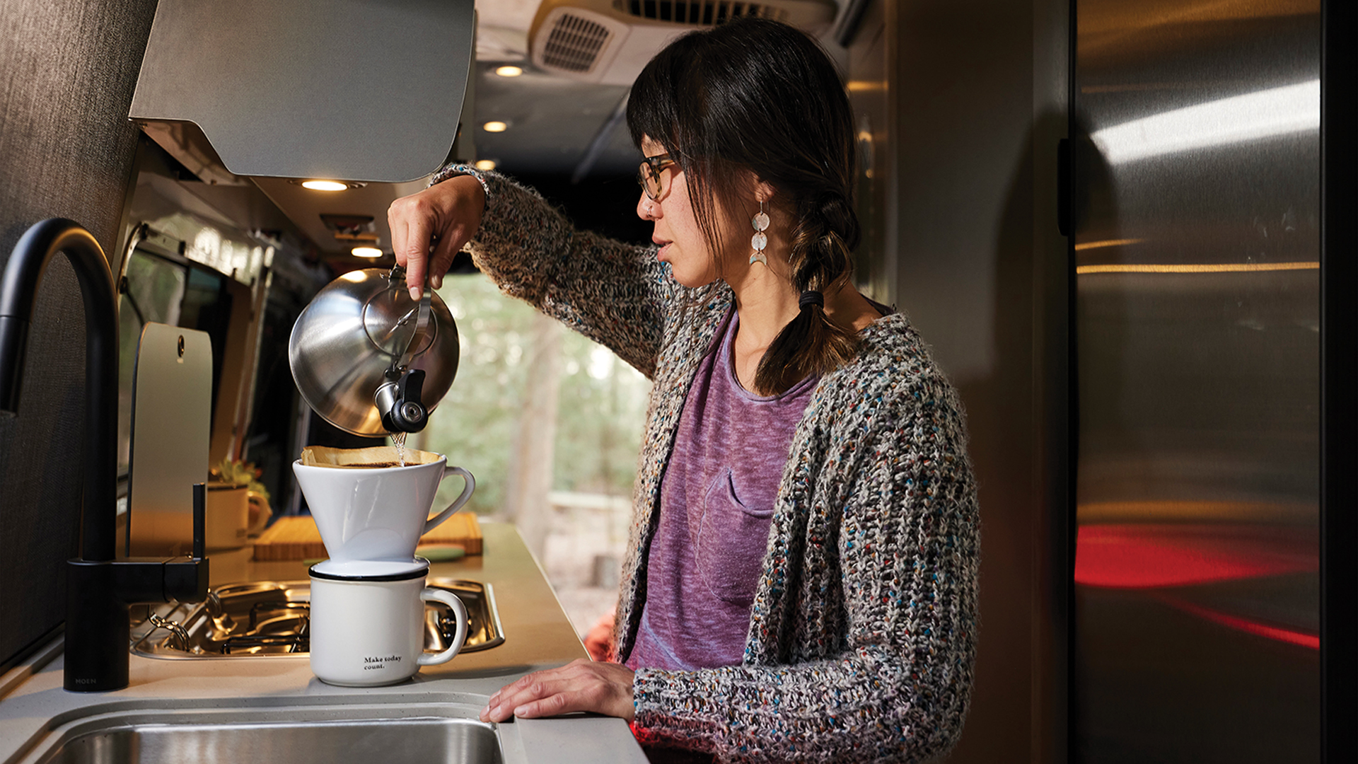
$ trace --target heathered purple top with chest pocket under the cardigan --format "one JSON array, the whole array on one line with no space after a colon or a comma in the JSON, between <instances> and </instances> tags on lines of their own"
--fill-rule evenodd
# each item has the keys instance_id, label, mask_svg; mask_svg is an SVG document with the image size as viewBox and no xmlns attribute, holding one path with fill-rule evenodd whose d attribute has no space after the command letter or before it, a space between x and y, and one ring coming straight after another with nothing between
<instances>
[{"instance_id":1,"label":"heathered purple top with chest pocket under the cardigan","mask_svg":"<svg viewBox=\"0 0 1358 764\"><path fill-rule=\"evenodd\" d=\"M744 655L773 503L816 378L781 396L746 392L731 360L739 321L732 311L679 416L627 657L633 670L732 666Z\"/></svg>"}]
</instances>

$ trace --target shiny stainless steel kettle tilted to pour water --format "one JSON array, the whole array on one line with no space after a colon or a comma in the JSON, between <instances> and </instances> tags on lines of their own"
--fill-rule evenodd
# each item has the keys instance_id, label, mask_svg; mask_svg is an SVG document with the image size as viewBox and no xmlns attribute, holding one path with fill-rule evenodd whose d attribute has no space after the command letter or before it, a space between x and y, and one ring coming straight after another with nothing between
<instances>
[{"instance_id":1,"label":"shiny stainless steel kettle tilted to pour water","mask_svg":"<svg viewBox=\"0 0 1358 764\"><path fill-rule=\"evenodd\" d=\"M458 325L428 287L414 300L405 269L367 268L330 281L288 341L303 400L340 430L424 430L458 374Z\"/></svg>"}]
</instances>

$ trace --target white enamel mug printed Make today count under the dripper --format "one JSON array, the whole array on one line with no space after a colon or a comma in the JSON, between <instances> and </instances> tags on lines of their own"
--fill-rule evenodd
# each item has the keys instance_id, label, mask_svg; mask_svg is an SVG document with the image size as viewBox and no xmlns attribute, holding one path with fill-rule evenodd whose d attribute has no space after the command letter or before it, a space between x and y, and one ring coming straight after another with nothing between
<instances>
[{"instance_id":1,"label":"white enamel mug printed Make today count under the dripper","mask_svg":"<svg viewBox=\"0 0 1358 764\"><path fill-rule=\"evenodd\" d=\"M467 639L467 608L451 591L425 589L428 572L420 557L311 566L311 673L326 684L378 687L452 661ZM458 623L441 653L424 650L426 601L448 605Z\"/></svg>"}]
</instances>

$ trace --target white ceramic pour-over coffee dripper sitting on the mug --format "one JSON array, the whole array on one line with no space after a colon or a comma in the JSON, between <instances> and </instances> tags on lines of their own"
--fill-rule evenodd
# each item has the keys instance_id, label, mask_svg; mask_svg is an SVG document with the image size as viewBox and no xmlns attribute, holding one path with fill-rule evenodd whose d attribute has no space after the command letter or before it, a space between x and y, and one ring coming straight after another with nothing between
<instances>
[{"instance_id":1,"label":"white ceramic pour-over coffee dripper sitting on the mug","mask_svg":"<svg viewBox=\"0 0 1358 764\"><path fill-rule=\"evenodd\" d=\"M477 480L447 457L409 466L331 468L292 462L326 552L335 563L410 560L420 537L452 517L471 498ZM460 474L462 493L429 517L439 483Z\"/></svg>"}]
</instances>

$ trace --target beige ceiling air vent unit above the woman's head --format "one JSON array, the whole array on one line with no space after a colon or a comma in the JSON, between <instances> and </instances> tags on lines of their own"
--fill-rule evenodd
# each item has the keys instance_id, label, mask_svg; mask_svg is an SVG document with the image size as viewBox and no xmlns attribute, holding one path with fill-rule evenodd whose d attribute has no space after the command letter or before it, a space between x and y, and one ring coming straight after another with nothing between
<instances>
[{"instance_id":1,"label":"beige ceiling air vent unit above the woman's head","mask_svg":"<svg viewBox=\"0 0 1358 764\"><path fill-rule=\"evenodd\" d=\"M820 35L834 0L542 0L528 52L545 72L600 84L631 84L652 56L687 31L732 19L775 19Z\"/></svg>"}]
</instances>

